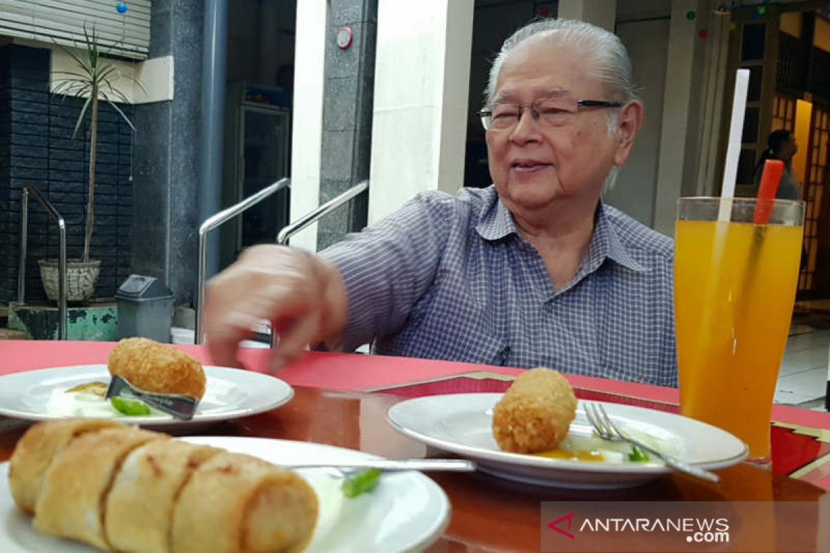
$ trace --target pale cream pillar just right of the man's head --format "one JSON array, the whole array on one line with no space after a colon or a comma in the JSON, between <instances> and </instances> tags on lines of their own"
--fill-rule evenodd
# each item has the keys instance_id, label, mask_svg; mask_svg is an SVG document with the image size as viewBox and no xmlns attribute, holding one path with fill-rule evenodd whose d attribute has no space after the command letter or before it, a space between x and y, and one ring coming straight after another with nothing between
<instances>
[{"instance_id":1,"label":"pale cream pillar just right of the man's head","mask_svg":"<svg viewBox=\"0 0 830 553\"><path fill-rule=\"evenodd\" d=\"M674 235L676 203L683 184L691 91L700 93L699 84L692 83L696 25L686 18L687 12L697 10L697 3L697 0L671 2L657 197L654 201L654 229L670 236Z\"/></svg>"}]
</instances>

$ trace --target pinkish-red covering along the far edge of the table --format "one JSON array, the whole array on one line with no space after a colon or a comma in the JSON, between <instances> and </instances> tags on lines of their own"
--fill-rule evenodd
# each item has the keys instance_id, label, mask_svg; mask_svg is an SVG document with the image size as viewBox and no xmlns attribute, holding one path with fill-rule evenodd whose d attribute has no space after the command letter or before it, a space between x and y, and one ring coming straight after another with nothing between
<instances>
[{"instance_id":1,"label":"pinkish-red covering along the far edge of the table","mask_svg":"<svg viewBox=\"0 0 830 553\"><path fill-rule=\"evenodd\" d=\"M0 341L0 376L54 366L105 363L114 342ZM206 347L179 346L212 364ZM243 349L243 366L265 371L269 351ZM521 369L451 361L309 352L276 376L293 386L333 390L387 390L398 395L501 391ZM583 399L676 410L676 389L567 375ZM830 414L784 405L773 408L776 472L830 489Z\"/></svg>"}]
</instances>

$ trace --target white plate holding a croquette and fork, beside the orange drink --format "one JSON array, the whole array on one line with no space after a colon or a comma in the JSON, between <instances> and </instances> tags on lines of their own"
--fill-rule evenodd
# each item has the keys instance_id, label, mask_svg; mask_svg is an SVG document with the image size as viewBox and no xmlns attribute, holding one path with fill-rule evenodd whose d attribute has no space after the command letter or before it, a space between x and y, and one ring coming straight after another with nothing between
<instances>
[{"instance_id":1,"label":"white plate holding a croquette and fork, beside the orange drink","mask_svg":"<svg viewBox=\"0 0 830 553\"><path fill-rule=\"evenodd\" d=\"M492 433L493 407L500 399L501 394L431 395L393 405L388 420L402 434L475 459L483 472L520 482L562 488L626 488L670 472L657 462L598 463L501 451ZM730 467L749 453L740 439L710 424L632 405L595 403L602 403L614 422L631 434L701 468ZM592 434L581 405L569 434L577 439L588 439Z\"/></svg>"}]
</instances>

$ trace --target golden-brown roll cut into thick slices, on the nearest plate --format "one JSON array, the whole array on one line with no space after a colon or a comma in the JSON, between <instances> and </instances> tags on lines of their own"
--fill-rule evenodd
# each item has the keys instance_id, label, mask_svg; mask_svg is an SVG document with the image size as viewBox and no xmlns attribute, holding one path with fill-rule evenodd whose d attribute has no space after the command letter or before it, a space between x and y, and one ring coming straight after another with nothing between
<instances>
[{"instance_id":1,"label":"golden-brown roll cut into thick slices, on the nearest plate","mask_svg":"<svg viewBox=\"0 0 830 553\"><path fill-rule=\"evenodd\" d=\"M21 443L54 450L48 439L64 439L68 422L35 424ZM289 553L313 536L317 496L296 473L109 424L70 438L51 459L35 497L35 529L136 553ZM31 458L18 446L12 464Z\"/></svg>"}]
</instances>

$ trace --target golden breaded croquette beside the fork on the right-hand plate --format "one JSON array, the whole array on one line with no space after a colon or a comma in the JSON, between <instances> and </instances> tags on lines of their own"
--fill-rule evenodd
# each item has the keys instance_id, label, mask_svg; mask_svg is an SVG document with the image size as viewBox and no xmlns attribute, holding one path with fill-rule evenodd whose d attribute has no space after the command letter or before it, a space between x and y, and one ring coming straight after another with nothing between
<instances>
[{"instance_id":1,"label":"golden breaded croquette beside the fork on the right-hand plate","mask_svg":"<svg viewBox=\"0 0 830 553\"><path fill-rule=\"evenodd\" d=\"M535 454L555 449L576 418L576 395L557 371L524 372L493 410L493 436L504 451Z\"/></svg>"}]
</instances>

